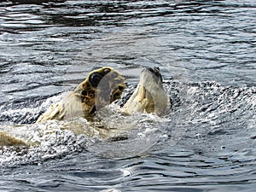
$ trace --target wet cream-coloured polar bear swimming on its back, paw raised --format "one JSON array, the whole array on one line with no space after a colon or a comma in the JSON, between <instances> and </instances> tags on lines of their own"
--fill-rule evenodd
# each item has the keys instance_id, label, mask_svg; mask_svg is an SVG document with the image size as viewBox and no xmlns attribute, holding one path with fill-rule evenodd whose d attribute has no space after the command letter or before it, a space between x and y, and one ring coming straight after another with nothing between
<instances>
[{"instance_id":1,"label":"wet cream-coloured polar bear swimming on its back, paw raised","mask_svg":"<svg viewBox=\"0 0 256 192\"><path fill-rule=\"evenodd\" d=\"M91 84L90 78L92 74L102 74L103 80L99 84ZM87 78L78 85L66 98L58 102L43 113L37 120L37 123L42 123L49 119L62 120L73 119L76 117L84 117L89 119L93 116L98 108L102 108L116 99L119 99L123 90L125 90L125 79L112 67L102 67L89 73ZM162 78L159 69L152 70L151 68L143 69L139 84L130 99L122 108L127 114L135 112L156 113L162 115L171 108L169 97L162 86ZM65 123L66 122L66 123ZM90 136L97 132L102 138L118 137L119 130L103 129L101 126L97 127L96 122L93 122L94 127L84 130L84 125L76 124L73 121L65 121L61 124L61 129L73 131L74 134L80 135L85 132ZM44 130L38 126L37 131L44 134ZM62 127L63 126L63 127ZM47 132L54 132L49 126L45 127ZM24 125L22 134L19 134L19 126L5 126L0 131L0 146L34 146L37 143L30 143L26 141L26 130L34 130L34 127ZM29 134L29 133L27 133Z\"/></svg>"}]
</instances>

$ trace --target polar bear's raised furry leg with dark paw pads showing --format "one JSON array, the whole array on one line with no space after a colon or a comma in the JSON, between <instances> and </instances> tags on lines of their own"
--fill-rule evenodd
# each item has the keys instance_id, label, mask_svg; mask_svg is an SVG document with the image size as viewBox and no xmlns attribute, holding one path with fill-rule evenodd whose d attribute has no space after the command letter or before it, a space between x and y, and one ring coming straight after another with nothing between
<instances>
[{"instance_id":1,"label":"polar bear's raised furry leg with dark paw pads showing","mask_svg":"<svg viewBox=\"0 0 256 192\"><path fill-rule=\"evenodd\" d=\"M90 75L92 74L101 74L103 77L96 87L90 83ZM38 118L37 123L49 119L62 120L75 117L90 119L96 108L102 108L119 99L123 90L125 90L125 79L112 67L94 70L66 98L52 105L43 113Z\"/></svg>"}]
</instances>

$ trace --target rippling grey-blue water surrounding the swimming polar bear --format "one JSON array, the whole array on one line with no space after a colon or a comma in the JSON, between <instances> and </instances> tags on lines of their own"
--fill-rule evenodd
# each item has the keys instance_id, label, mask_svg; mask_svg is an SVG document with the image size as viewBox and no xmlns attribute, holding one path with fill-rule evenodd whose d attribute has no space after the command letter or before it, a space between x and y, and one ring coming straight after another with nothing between
<instances>
[{"instance_id":1,"label":"rippling grey-blue water surrounding the swimming polar bear","mask_svg":"<svg viewBox=\"0 0 256 192\"><path fill-rule=\"evenodd\" d=\"M253 0L1 2L2 127L33 129L93 66L124 74L125 94L159 66L173 102L125 140L2 148L1 191L254 191L255 23Z\"/></svg>"}]
</instances>

